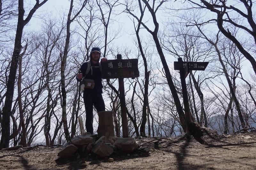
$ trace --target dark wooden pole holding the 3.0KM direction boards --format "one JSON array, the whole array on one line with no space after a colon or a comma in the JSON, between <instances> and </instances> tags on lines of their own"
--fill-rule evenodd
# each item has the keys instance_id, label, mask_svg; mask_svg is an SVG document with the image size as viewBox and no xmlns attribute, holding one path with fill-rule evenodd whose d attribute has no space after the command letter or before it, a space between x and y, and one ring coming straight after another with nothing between
<instances>
[{"instance_id":1,"label":"dark wooden pole holding the 3.0KM direction boards","mask_svg":"<svg viewBox=\"0 0 256 170\"><path fill-rule=\"evenodd\" d=\"M178 58L178 62L181 66L183 65L182 58ZM188 65L186 67L188 67ZM186 85L186 79L185 79L186 75L185 74L186 74L185 69L183 67L181 67L180 68L180 82L181 82L181 88L182 88L182 96L183 96L183 103L184 103L184 110L185 110L185 117L186 117L186 123L187 123L187 131L188 131L188 123L192 122L192 118L191 118L191 114L190 114L190 110L189 110L188 91L187 91L187 85Z\"/></svg>"}]
</instances>

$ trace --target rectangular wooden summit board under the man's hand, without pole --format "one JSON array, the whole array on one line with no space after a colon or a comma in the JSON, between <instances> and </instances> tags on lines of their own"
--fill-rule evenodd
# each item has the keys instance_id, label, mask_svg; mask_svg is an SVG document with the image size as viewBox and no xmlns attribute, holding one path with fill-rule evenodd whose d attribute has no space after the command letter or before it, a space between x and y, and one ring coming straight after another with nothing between
<instances>
[{"instance_id":1,"label":"rectangular wooden summit board under the man's hand, without pole","mask_svg":"<svg viewBox=\"0 0 256 170\"><path fill-rule=\"evenodd\" d=\"M116 59L100 62L103 79L139 77L138 59Z\"/></svg>"}]
</instances>

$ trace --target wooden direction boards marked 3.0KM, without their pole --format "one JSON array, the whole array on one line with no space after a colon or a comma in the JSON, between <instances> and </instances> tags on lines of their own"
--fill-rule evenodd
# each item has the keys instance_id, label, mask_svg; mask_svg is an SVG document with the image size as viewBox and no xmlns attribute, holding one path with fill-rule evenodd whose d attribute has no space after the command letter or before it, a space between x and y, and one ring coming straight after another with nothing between
<instances>
[{"instance_id":1,"label":"wooden direction boards marked 3.0KM, without their pole","mask_svg":"<svg viewBox=\"0 0 256 170\"><path fill-rule=\"evenodd\" d=\"M180 70L188 63L188 70L205 70L209 62L184 62L181 65L180 62L174 61L174 70Z\"/></svg>"}]
</instances>

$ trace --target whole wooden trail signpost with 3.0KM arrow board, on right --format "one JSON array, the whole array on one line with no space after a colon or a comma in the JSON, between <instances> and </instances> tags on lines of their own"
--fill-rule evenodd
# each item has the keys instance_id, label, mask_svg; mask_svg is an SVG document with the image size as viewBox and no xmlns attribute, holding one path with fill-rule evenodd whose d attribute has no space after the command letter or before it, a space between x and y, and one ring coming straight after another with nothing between
<instances>
[{"instance_id":1,"label":"whole wooden trail signpost with 3.0KM arrow board, on right","mask_svg":"<svg viewBox=\"0 0 256 170\"><path fill-rule=\"evenodd\" d=\"M188 123L192 122L192 116L189 110L188 90L186 85L186 77L191 70L205 70L209 62L183 62L182 58L178 58L178 62L174 61L174 70L180 70L180 82L182 88L182 96L188 131Z\"/></svg>"}]
</instances>

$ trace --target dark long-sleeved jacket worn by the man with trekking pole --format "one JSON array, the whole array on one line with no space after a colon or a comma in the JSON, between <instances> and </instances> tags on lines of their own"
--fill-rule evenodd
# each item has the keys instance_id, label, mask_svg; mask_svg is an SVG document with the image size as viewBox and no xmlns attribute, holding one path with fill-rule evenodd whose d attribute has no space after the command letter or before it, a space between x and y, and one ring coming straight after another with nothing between
<instances>
[{"instance_id":1,"label":"dark long-sleeved jacket worn by the man with trekking pole","mask_svg":"<svg viewBox=\"0 0 256 170\"><path fill-rule=\"evenodd\" d=\"M87 62L84 62L81 65L80 71L83 74L83 77L85 76L85 72L87 69ZM94 80L95 86L93 89L84 89L84 92L90 92L90 93L102 93L102 77L101 77L101 72L100 72L100 67L99 67L99 63L97 64L93 64L91 62L91 69L89 71L89 73L86 75L86 79L92 79ZM95 67L98 66L98 67Z\"/></svg>"}]
</instances>

